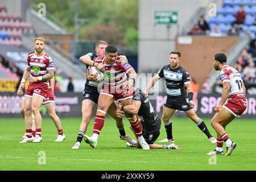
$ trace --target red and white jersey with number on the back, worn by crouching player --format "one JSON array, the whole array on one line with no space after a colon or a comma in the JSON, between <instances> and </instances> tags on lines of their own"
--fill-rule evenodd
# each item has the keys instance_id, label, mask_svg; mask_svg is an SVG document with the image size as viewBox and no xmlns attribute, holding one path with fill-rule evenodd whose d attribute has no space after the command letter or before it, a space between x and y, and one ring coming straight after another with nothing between
<instances>
[{"instance_id":1,"label":"red and white jersey with number on the back, worn by crouching player","mask_svg":"<svg viewBox=\"0 0 256 182\"><path fill-rule=\"evenodd\" d=\"M244 98L244 90L242 86L242 78L240 72L229 65L224 65L220 72L221 84L226 81L230 82L229 98Z\"/></svg>"}]
</instances>

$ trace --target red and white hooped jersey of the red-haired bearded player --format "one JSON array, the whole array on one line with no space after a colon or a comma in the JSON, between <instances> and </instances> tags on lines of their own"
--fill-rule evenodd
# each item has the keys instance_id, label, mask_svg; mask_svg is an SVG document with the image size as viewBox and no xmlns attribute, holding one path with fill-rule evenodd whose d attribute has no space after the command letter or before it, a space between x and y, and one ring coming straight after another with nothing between
<instances>
[{"instance_id":1,"label":"red and white hooped jersey of the red-haired bearded player","mask_svg":"<svg viewBox=\"0 0 256 182\"><path fill-rule=\"evenodd\" d=\"M31 76L38 77L47 74L47 71L54 69L54 63L52 58L44 53L44 55L37 57L35 53L31 53L27 57L27 67L31 68ZM47 81L37 81L37 82L47 82Z\"/></svg>"}]
</instances>

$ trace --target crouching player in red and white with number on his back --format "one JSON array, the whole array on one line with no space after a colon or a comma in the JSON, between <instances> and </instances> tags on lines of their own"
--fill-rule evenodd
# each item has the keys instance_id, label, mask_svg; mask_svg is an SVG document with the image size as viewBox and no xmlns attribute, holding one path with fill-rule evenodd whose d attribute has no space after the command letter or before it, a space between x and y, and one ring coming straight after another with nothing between
<instances>
[{"instance_id":1,"label":"crouching player in red and white with number on his back","mask_svg":"<svg viewBox=\"0 0 256 182\"><path fill-rule=\"evenodd\" d=\"M217 53L213 59L213 67L220 71L220 80L223 86L221 101L214 107L215 115L212 118L212 127L217 133L217 147L210 151L208 155L224 154L222 146L226 143L226 154L230 155L237 144L229 139L226 134L226 126L234 118L240 117L246 109L245 85L240 73L226 64L226 55Z\"/></svg>"}]
</instances>

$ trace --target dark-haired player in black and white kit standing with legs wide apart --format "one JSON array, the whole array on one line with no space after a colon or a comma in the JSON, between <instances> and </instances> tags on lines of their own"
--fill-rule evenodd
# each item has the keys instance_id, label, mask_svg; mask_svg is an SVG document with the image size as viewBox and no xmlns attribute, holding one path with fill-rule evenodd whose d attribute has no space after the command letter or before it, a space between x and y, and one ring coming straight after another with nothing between
<instances>
[{"instance_id":1,"label":"dark-haired player in black and white kit standing with legs wide apart","mask_svg":"<svg viewBox=\"0 0 256 182\"><path fill-rule=\"evenodd\" d=\"M192 119L193 122L199 127L208 139L212 143L216 143L216 139L209 133L207 126L200 119L193 107L193 90L190 82L189 73L179 65L181 53L179 51L172 51L170 53L170 64L162 67L158 73L150 80L145 90L146 96L148 96L148 90L155 85L155 82L160 78L165 78L167 100L163 106L163 121L166 128L167 138L160 140L159 142L174 142L172 137L172 121L171 117L174 115L176 109L184 111L184 113ZM187 92L184 89L184 85L187 88Z\"/></svg>"}]
</instances>

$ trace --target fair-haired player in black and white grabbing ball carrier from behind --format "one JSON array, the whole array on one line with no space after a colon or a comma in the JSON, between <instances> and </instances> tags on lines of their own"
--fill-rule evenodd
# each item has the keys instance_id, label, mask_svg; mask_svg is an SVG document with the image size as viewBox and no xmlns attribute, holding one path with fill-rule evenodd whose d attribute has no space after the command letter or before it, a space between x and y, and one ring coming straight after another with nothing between
<instances>
[{"instance_id":1,"label":"fair-haired player in black and white grabbing ball carrier from behind","mask_svg":"<svg viewBox=\"0 0 256 182\"><path fill-rule=\"evenodd\" d=\"M105 49L108 46L108 43L105 41L99 40L96 42L95 45L95 52L96 53L87 53L84 56L80 57L80 61L84 64L86 64L86 67L94 66L100 69L100 71L104 72L105 67L102 63L94 63L93 59L96 57L104 56L105 55ZM80 144L82 141L82 138L87 130L88 124L90 122L90 118L92 117L92 112L95 107L95 105L98 103L98 97L100 96L100 93L98 93L98 82L97 80L97 74L89 74L88 69L86 69L86 83L85 83L85 88L84 92L82 93L83 95L83 100L82 100L82 122L79 128L79 133L77 135L76 143L72 147L73 149L79 149ZM115 115L115 110L117 109L117 106L113 103L110 106L110 109L108 110L108 114L115 119L115 123L118 127L119 130L119 137L122 140L126 140L127 142L134 144L136 141L126 135L125 129L123 127L123 121L122 118L118 118L117 115Z\"/></svg>"}]
</instances>

